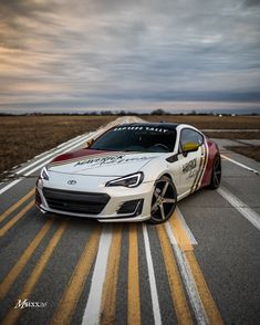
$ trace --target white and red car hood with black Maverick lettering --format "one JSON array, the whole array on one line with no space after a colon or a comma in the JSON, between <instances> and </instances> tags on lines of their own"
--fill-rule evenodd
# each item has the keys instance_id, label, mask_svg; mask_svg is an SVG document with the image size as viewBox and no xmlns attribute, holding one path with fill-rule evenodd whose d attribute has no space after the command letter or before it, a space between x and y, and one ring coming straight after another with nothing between
<instances>
[{"instance_id":1,"label":"white and red car hood with black Maverick lettering","mask_svg":"<svg viewBox=\"0 0 260 325\"><path fill-rule=\"evenodd\" d=\"M124 176L138 171L159 155L81 149L56 157L48 170L70 175Z\"/></svg>"}]
</instances>

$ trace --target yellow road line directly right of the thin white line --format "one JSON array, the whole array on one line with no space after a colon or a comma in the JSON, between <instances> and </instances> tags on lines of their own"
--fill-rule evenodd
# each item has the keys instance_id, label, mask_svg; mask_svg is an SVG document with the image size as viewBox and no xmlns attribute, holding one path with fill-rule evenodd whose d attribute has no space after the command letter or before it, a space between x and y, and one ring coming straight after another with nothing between
<instances>
[{"instance_id":1,"label":"yellow road line directly right of the thin white line","mask_svg":"<svg viewBox=\"0 0 260 325\"><path fill-rule=\"evenodd\" d=\"M167 271L171 298L177 316L178 324L193 324L188 304L186 301L184 287L178 273L178 268L175 261L175 256L170 247L170 242L167 238L164 226L157 227L164 262ZM134 323L133 323L134 324Z\"/></svg>"}]
</instances>

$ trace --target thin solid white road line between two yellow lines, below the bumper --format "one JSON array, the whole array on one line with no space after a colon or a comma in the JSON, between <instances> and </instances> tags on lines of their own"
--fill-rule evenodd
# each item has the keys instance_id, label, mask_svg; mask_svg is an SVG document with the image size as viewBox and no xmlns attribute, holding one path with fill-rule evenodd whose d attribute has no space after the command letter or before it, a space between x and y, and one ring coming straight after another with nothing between
<instances>
[{"instance_id":1,"label":"thin solid white road line between two yellow lines, below the bumper","mask_svg":"<svg viewBox=\"0 0 260 325\"><path fill-rule=\"evenodd\" d=\"M154 264L153 264L153 259L152 259L152 253L150 253L150 245L149 245L149 238L148 238L148 233L147 233L147 227L145 223L143 223L143 235L144 235L144 241L145 241L145 254L146 254L146 261L147 261L147 266L148 266L149 287L150 287L150 295L152 295L154 321L155 321L155 325L160 325L162 317L160 317L157 287L156 287L156 282L155 282Z\"/></svg>"}]
</instances>

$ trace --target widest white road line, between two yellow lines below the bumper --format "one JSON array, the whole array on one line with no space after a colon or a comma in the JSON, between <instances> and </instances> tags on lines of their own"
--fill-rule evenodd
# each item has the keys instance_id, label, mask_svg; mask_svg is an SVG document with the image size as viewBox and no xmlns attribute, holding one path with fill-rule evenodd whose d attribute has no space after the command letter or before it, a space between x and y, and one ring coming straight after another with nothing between
<instances>
[{"instance_id":1,"label":"widest white road line, between two yellow lines below the bumper","mask_svg":"<svg viewBox=\"0 0 260 325\"><path fill-rule=\"evenodd\" d=\"M82 319L83 325L100 324L102 290L105 281L107 259L112 243L112 234L113 232L110 226L104 228L101 234L90 295Z\"/></svg>"}]
</instances>

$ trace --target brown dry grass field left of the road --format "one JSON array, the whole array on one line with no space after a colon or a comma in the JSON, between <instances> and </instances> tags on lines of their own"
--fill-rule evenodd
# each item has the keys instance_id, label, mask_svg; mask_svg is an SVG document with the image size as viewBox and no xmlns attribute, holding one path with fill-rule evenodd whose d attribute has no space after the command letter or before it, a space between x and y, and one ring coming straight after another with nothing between
<instances>
[{"instance_id":1,"label":"brown dry grass field left of the road","mask_svg":"<svg viewBox=\"0 0 260 325\"><path fill-rule=\"evenodd\" d=\"M0 172L77 135L95 130L114 116L1 116Z\"/></svg>"}]
</instances>

